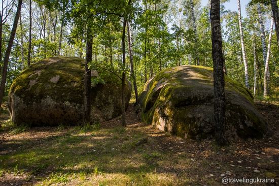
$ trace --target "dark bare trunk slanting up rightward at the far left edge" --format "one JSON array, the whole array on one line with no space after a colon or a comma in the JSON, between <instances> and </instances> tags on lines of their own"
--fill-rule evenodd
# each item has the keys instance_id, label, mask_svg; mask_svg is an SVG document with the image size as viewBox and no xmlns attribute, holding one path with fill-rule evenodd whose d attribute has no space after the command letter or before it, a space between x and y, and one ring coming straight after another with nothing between
<instances>
[{"instance_id":1,"label":"dark bare trunk slanting up rightward at the far left edge","mask_svg":"<svg viewBox=\"0 0 279 186\"><path fill-rule=\"evenodd\" d=\"M3 101L3 97L4 97L7 72L8 72L8 63L9 63L11 49L12 49L15 34L16 34L16 28L17 28L18 19L20 16L21 6L22 6L22 0L18 0L18 6L17 6L17 11L16 11L12 31L11 31L11 36L9 39L9 43L8 43L6 53L5 53L5 58L4 58L3 73L2 73L2 79L1 79L1 85L0 85L0 108L2 108L2 101Z\"/></svg>"}]
</instances>

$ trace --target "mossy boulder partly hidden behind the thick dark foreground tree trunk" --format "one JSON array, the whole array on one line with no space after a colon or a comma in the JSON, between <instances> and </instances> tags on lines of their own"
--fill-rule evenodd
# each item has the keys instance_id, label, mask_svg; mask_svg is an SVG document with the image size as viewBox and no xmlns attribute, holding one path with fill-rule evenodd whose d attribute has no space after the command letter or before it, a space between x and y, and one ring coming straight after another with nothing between
<instances>
[{"instance_id":1,"label":"mossy boulder partly hidden behind the thick dark foreground tree trunk","mask_svg":"<svg viewBox=\"0 0 279 186\"><path fill-rule=\"evenodd\" d=\"M250 91L225 75L226 125L231 139L271 133ZM179 66L150 78L140 95L142 118L162 131L190 139L214 138L213 69Z\"/></svg>"}]
</instances>

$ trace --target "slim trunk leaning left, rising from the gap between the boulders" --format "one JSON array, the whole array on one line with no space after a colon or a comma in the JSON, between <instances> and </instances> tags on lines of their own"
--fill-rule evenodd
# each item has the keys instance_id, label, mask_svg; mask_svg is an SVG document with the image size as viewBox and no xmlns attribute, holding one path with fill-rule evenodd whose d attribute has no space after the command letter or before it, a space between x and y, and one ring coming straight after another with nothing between
<instances>
[{"instance_id":1,"label":"slim trunk leaning left, rising from the gap between the boulders","mask_svg":"<svg viewBox=\"0 0 279 186\"><path fill-rule=\"evenodd\" d=\"M137 94L136 79L135 79L135 74L134 74L133 51L132 51L132 41L131 41L132 39L131 39L130 23L129 22L127 22L127 35L128 35L128 45L129 45L131 77L132 77L133 85L134 85L135 105L137 105L138 104L138 94Z\"/></svg>"}]
</instances>

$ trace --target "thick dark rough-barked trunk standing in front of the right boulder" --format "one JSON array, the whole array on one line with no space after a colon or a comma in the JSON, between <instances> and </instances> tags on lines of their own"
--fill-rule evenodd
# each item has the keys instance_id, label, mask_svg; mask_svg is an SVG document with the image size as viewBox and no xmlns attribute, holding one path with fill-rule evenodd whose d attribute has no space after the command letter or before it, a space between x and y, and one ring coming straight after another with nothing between
<instances>
[{"instance_id":1,"label":"thick dark rough-barked trunk standing in front of the right boulder","mask_svg":"<svg viewBox=\"0 0 279 186\"><path fill-rule=\"evenodd\" d=\"M225 79L223 72L222 35L220 23L220 0L211 1L212 57L214 63L214 121L215 138L219 145L227 145Z\"/></svg>"}]
</instances>

